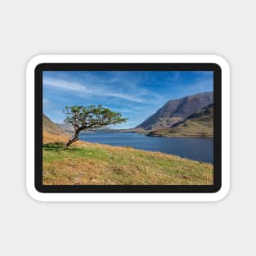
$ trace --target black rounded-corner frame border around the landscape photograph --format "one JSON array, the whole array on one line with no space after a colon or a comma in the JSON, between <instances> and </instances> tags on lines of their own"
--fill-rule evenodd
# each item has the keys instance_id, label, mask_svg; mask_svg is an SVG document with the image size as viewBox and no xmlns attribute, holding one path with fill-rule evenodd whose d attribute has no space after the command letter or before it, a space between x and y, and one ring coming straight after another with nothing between
<instances>
[{"instance_id":1,"label":"black rounded-corner frame border around the landscape photograph","mask_svg":"<svg viewBox=\"0 0 256 256\"><path fill-rule=\"evenodd\" d=\"M43 185L43 71L213 71L213 185ZM34 186L41 193L215 193L222 186L222 70L215 63L42 63L34 70Z\"/></svg>"}]
</instances>

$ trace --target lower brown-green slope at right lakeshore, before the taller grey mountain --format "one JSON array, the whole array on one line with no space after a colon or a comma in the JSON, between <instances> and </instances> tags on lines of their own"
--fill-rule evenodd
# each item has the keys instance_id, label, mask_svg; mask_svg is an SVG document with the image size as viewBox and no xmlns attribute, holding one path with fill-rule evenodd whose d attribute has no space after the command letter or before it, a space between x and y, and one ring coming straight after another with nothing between
<instances>
[{"instance_id":1,"label":"lower brown-green slope at right lakeshore, before the taller grey mountain","mask_svg":"<svg viewBox=\"0 0 256 256\"><path fill-rule=\"evenodd\" d=\"M188 116L171 128L148 133L151 137L210 137L213 136L213 104Z\"/></svg>"}]
</instances>

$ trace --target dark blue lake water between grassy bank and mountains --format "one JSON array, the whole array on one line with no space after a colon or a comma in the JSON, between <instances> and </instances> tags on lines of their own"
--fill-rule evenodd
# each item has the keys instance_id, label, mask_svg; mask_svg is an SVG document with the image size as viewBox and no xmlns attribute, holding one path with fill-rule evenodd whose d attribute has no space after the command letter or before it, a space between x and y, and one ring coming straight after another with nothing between
<instances>
[{"instance_id":1,"label":"dark blue lake water between grassy bank and mountains","mask_svg":"<svg viewBox=\"0 0 256 256\"><path fill-rule=\"evenodd\" d=\"M133 132L94 132L79 134L79 139L111 146L159 151L213 163L213 137L146 137Z\"/></svg>"}]
</instances>

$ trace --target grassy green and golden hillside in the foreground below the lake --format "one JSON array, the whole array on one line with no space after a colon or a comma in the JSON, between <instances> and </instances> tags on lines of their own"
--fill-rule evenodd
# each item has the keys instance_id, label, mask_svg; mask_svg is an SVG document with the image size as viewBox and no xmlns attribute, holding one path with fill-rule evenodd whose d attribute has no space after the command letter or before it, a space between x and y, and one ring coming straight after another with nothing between
<instances>
[{"instance_id":1,"label":"grassy green and golden hillside in the foreground below the lake","mask_svg":"<svg viewBox=\"0 0 256 256\"><path fill-rule=\"evenodd\" d=\"M65 150L67 138L43 132L45 185L213 184L213 164L84 141Z\"/></svg>"}]
</instances>

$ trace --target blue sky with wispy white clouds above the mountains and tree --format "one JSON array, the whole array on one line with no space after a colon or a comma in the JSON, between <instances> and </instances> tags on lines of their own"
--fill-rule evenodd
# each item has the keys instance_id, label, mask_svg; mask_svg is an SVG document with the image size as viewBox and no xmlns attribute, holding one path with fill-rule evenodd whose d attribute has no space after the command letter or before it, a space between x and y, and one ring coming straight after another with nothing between
<instances>
[{"instance_id":1,"label":"blue sky with wispy white clouds above the mountains and tree","mask_svg":"<svg viewBox=\"0 0 256 256\"><path fill-rule=\"evenodd\" d=\"M44 71L43 112L63 123L65 106L103 105L133 128L170 99L213 92L212 71Z\"/></svg>"}]
</instances>

